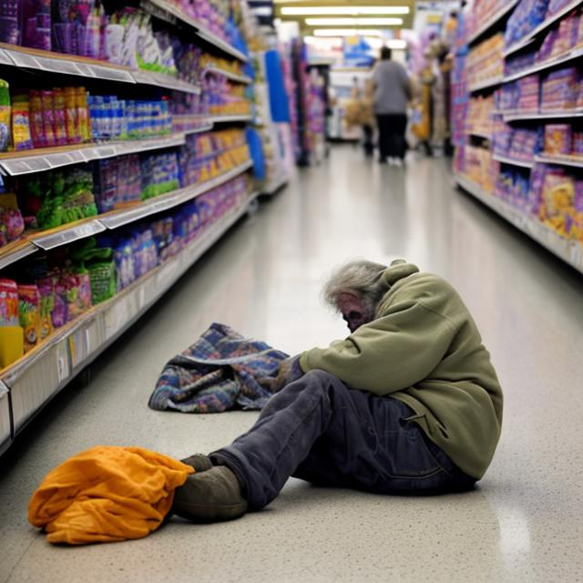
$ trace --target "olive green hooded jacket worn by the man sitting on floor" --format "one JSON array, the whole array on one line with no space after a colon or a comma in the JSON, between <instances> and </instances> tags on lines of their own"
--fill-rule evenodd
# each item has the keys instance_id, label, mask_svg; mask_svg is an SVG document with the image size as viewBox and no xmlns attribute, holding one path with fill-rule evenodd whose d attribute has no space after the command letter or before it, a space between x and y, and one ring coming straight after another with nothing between
<instances>
[{"instance_id":1,"label":"olive green hooded jacket worn by the man sitting on floor","mask_svg":"<svg viewBox=\"0 0 583 583\"><path fill-rule=\"evenodd\" d=\"M404 261L382 278L387 292L373 322L329 348L302 353L304 372L322 369L350 387L391 396L468 476L480 479L502 424L502 389L476 322L445 280Z\"/></svg>"}]
</instances>

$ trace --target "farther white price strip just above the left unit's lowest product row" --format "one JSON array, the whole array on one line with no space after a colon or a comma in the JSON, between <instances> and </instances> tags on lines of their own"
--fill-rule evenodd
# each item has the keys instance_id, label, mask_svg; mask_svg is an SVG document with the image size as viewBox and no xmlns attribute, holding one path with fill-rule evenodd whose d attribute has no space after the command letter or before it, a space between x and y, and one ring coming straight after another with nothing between
<instances>
[{"instance_id":1,"label":"farther white price strip just above the left unit's lowest product row","mask_svg":"<svg viewBox=\"0 0 583 583\"><path fill-rule=\"evenodd\" d=\"M195 184L184 189L173 190L168 194L163 194L159 197L138 203L136 206L128 209L114 210L107 213L107 215L100 217L98 222L104 227L104 229L118 229L118 227L123 227L124 225L128 225L136 220L144 219L149 215L153 215L162 210L172 209L183 202L195 199L204 192L214 189L221 184L228 182L230 179L234 179L236 176L251 169L252 166L253 162L248 160L214 179L205 180L200 184Z\"/></svg>"}]
</instances>

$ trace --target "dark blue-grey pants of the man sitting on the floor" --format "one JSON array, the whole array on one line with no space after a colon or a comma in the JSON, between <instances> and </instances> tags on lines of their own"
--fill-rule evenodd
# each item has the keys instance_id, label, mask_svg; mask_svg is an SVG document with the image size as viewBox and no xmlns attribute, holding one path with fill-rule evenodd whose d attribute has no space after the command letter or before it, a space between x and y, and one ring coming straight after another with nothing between
<instances>
[{"instance_id":1,"label":"dark blue-grey pants of the man sitting on the floor","mask_svg":"<svg viewBox=\"0 0 583 583\"><path fill-rule=\"evenodd\" d=\"M466 490L466 476L407 418L396 399L347 388L312 371L271 400L251 430L210 455L239 478L251 510L268 505L290 476L378 494Z\"/></svg>"}]
</instances>

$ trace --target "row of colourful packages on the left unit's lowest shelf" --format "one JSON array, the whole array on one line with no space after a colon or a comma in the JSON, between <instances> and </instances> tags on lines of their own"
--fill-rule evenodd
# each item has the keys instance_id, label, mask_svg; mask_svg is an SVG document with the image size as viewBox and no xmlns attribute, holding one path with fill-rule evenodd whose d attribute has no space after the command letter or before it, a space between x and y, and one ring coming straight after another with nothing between
<instances>
[{"instance_id":1,"label":"row of colourful packages on the left unit's lowest shelf","mask_svg":"<svg viewBox=\"0 0 583 583\"><path fill-rule=\"evenodd\" d=\"M15 353L14 346L4 345L13 339L0 335L0 355L10 353L15 360L92 306L113 298L240 206L248 189L247 179L240 176L156 220L18 264L0 279L0 327L19 328L24 343ZM8 364L0 362L2 367Z\"/></svg>"}]
</instances>

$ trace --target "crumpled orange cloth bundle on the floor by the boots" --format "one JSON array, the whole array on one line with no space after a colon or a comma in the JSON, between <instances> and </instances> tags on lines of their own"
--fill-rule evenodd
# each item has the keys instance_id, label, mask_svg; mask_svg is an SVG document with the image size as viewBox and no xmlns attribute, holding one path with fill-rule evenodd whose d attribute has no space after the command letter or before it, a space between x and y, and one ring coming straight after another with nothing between
<instances>
[{"instance_id":1,"label":"crumpled orange cloth bundle on the floor by the boots","mask_svg":"<svg viewBox=\"0 0 583 583\"><path fill-rule=\"evenodd\" d=\"M193 472L140 447L93 447L46 476L30 499L28 520L45 528L50 543L146 537L168 514L174 490Z\"/></svg>"}]
</instances>

